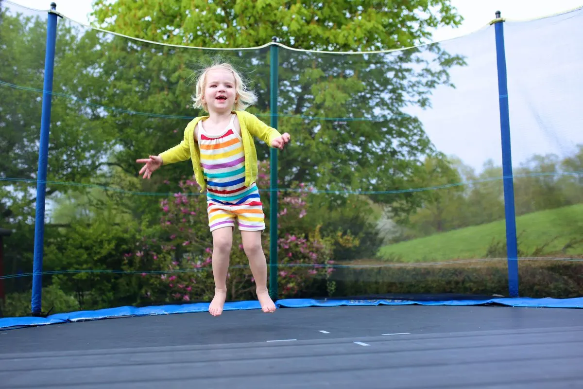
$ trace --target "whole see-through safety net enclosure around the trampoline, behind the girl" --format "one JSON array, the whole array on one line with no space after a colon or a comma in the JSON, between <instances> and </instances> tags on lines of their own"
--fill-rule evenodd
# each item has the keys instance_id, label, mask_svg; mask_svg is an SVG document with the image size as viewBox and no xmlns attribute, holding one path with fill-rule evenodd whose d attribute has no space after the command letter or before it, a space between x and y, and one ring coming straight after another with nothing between
<instances>
[{"instance_id":1,"label":"whole see-through safety net enclosure around the trampoline, behind the girl","mask_svg":"<svg viewBox=\"0 0 583 389\"><path fill-rule=\"evenodd\" d=\"M282 152L256 141L273 298L583 294L582 9L383 52L164 45L59 17L48 92L47 11L0 4L5 317L31 301L41 314L212 299L192 164L143 180L136 159L205 114L195 75L219 58L257 94L247 111L291 135ZM253 302L238 230L230 267L227 300Z\"/></svg>"}]
</instances>

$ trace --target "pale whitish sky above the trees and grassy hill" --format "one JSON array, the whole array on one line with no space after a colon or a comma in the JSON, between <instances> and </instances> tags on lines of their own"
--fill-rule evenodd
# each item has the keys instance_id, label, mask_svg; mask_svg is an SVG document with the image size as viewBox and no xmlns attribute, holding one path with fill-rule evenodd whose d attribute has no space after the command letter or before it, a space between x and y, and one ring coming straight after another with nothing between
<instances>
[{"instance_id":1,"label":"pale whitish sky above the trees and grassy hill","mask_svg":"<svg viewBox=\"0 0 583 389\"><path fill-rule=\"evenodd\" d=\"M23 6L48 9L50 0L11 0ZM89 24L92 0L55 0L69 19ZM583 144L583 0L452 0L464 21L455 29L441 27L433 41L468 65L452 69L456 88L438 86L432 107L411 107L437 149L482 169L501 159L500 108L494 26L500 10L504 23L508 72L508 103L512 162L524 163L534 154L573 155ZM532 20L537 19L537 20Z\"/></svg>"}]
</instances>

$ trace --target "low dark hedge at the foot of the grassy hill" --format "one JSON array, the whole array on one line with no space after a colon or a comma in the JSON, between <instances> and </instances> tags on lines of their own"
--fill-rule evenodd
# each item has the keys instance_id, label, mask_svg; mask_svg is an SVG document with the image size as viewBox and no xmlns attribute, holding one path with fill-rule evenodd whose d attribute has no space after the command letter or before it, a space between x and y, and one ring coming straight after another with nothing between
<instances>
[{"instance_id":1,"label":"low dark hedge at the foot of the grassy hill","mask_svg":"<svg viewBox=\"0 0 583 389\"><path fill-rule=\"evenodd\" d=\"M314 289L300 294L302 297L329 296L331 282L334 293L330 297L445 293L508 296L505 261L479 266L338 268L328 281L314 282ZM519 295L558 299L583 296L583 262L519 262Z\"/></svg>"}]
</instances>

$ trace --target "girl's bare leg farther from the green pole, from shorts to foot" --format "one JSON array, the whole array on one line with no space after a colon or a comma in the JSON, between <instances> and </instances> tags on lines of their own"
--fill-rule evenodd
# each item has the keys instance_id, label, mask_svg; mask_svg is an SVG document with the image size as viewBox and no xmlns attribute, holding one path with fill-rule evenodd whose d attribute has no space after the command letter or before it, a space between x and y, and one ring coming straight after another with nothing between
<instances>
[{"instance_id":1,"label":"girl's bare leg farther from the green pole, from shorts to foot","mask_svg":"<svg viewBox=\"0 0 583 389\"><path fill-rule=\"evenodd\" d=\"M213 276L215 278L215 297L210 302L209 313L219 316L223 313L224 300L227 298L227 272L229 255L233 245L233 227L216 229L213 234Z\"/></svg>"}]
</instances>

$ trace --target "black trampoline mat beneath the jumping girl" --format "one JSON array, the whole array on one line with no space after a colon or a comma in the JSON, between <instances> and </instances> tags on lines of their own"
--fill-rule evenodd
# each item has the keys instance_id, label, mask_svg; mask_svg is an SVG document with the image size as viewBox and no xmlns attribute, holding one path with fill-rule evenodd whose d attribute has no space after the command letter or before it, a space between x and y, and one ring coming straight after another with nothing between
<instances>
[{"instance_id":1,"label":"black trampoline mat beneath the jumping girl","mask_svg":"<svg viewBox=\"0 0 583 389\"><path fill-rule=\"evenodd\" d=\"M220 317L201 311L5 329L0 387L583 385L581 309L368 303L279 302L274 314L227 304Z\"/></svg>"}]
</instances>

